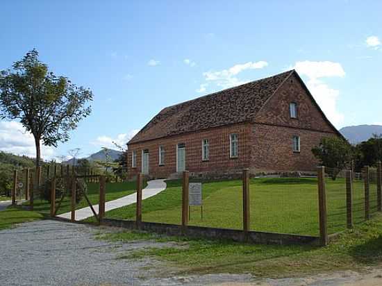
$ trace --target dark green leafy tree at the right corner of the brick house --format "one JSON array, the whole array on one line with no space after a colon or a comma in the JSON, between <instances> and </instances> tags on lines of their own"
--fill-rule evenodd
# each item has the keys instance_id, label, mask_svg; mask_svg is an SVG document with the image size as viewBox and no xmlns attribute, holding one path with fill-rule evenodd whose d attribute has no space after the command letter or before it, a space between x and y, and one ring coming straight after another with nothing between
<instances>
[{"instance_id":1,"label":"dark green leafy tree at the right corner of the brick house","mask_svg":"<svg viewBox=\"0 0 382 286\"><path fill-rule=\"evenodd\" d=\"M319 146L312 149L313 155L321 164L329 169L331 178L335 180L340 170L351 160L351 146L338 137L324 137Z\"/></svg>"}]
</instances>

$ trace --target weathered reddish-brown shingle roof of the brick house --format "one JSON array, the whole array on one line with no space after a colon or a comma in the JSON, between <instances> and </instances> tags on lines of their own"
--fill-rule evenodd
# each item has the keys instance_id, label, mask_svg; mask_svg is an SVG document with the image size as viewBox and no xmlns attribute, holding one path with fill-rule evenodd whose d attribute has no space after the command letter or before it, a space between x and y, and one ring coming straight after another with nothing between
<instances>
[{"instance_id":1,"label":"weathered reddish-brown shingle roof of the brick house","mask_svg":"<svg viewBox=\"0 0 382 286\"><path fill-rule=\"evenodd\" d=\"M253 121L256 112L293 72L283 72L164 108L128 144Z\"/></svg>"}]
</instances>

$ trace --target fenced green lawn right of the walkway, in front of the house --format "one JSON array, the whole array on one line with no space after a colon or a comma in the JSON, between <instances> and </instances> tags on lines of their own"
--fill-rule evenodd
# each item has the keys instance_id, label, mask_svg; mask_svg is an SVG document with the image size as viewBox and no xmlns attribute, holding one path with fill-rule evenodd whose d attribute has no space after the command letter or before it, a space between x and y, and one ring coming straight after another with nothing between
<instances>
[{"instance_id":1,"label":"fenced green lawn right of the walkway, in front of the house","mask_svg":"<svg viewBox=\"0 0 382 286\"><path fill-rule=\"evenodd\" d=\"M142 202L143 221L181 224L181 180L167 180L167 189ZM346 226L345 181L326 181L329 233ZM363 221L363 182L354 182L355 222ZM371 185L371 201L376 187ZM251 230L318 235L316 178L255 178L250 182ZM374 208L374 202L372 207ZM242 228L242 182L203 183L204 218L193 207L190 225ZM135 204L106 212L114 219L135 219Z\"/></svg>"}]
</instances>

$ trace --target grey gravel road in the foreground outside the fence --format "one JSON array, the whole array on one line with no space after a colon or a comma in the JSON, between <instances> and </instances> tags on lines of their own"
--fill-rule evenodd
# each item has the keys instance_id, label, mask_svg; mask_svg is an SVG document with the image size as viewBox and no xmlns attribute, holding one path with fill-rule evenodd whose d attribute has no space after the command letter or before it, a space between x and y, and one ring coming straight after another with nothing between
<instances>
[{"instance_id":1,"label":"grey gravel road in the foreground outside the fence","mask_svg":"<svg viewBox=\"0 0 382 286\"><path fill-rule=\"evenodd\" d=\"M340 271L304 278L256 279L249 274L177 276L176 268L150 258L119 259L147 247L179 247L153 241L106 242L115 231L63 221L35 221L0 230L0 285L382 285L382 270Z\"/></svg>"}]
</instances>

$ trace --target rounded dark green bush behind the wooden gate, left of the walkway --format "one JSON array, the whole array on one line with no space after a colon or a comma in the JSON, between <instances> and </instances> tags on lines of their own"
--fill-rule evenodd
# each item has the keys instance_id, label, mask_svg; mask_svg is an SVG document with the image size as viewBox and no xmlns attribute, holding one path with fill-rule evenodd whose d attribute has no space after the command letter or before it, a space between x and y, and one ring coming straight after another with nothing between
<instances>
[{"instance_id":1,"label":"rounded dark green bush behind the wooden gate, left of the walkway","mask_svg":"<svg viewBox=\"0 0 382 286\"><path fill-rule=\"evenodd\" d=\"M45 201L51 202L51 178L46 180L40 186L40 196L41 199ZM59 178L56 179L56 198L63 196L63 194L67 194L67 196L72 196L72 178ZM79 203L84 194L88 193L88 185L86 185L85 180L76 179L76 203Z\"/></svg>"}]
</instances>

